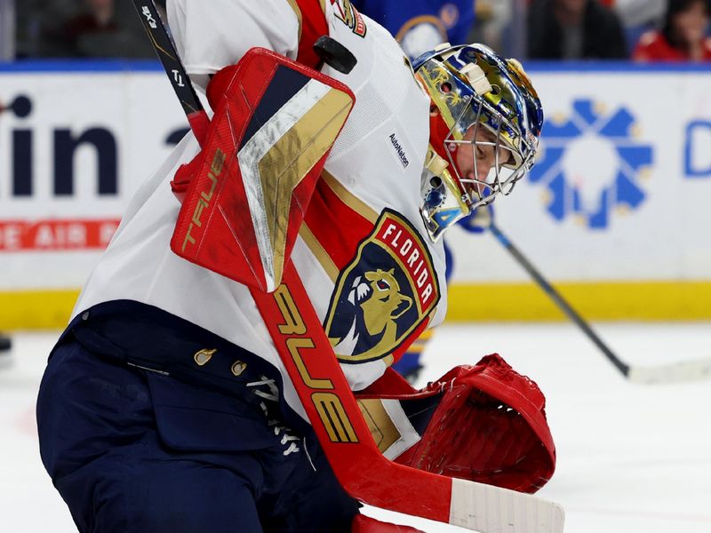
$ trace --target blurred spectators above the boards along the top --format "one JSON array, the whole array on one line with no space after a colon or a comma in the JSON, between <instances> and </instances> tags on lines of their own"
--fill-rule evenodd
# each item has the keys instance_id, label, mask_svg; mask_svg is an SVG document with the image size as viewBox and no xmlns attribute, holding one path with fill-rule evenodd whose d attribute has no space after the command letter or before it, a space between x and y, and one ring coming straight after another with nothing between
<instances>
[{"instance_id":1,"label":"blurred spectators above the boards along the top","mask_svg":"<svg viewBox=\"0 0 711 533\"><path fill-rule=\"evenodd\" d=\"M428 0L427 15L439 13L443 28L466 25L459 35L468 42L522 58L711 60L711 0L468 1L473 9L465 14L461 1ZM370 14L368 2L353 4ZM408 0L371 4L393 4L408 23L424 14L407 12ZM0 0L0 12L5 36L12 13L17 59L154 57L131 2Z\"/></svg>"}]
</instances>

